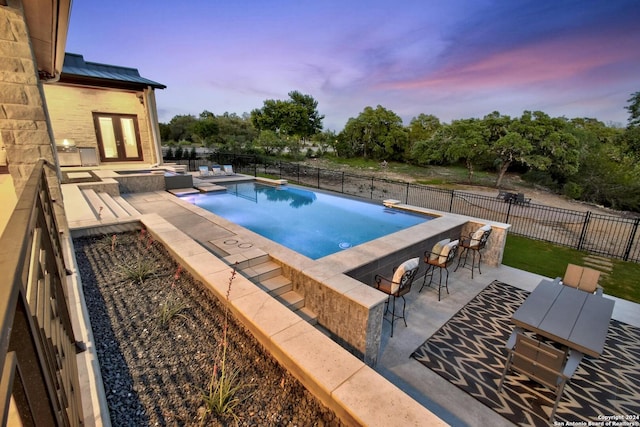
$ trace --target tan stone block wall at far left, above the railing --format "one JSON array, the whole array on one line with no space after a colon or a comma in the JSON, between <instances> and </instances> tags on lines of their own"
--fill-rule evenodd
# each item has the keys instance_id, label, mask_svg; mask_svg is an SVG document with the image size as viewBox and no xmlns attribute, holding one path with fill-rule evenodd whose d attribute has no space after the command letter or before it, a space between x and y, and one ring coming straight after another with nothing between
<instances>
[{"instance_id":1,"label":"tan stone block wall at far left, above the railing","mask_svg":"<svg viewBox=\"0 0 640 427\"><path fill-rule=\"evenodd\" d=\"M0 7L0 146L5 147L19 195L38 160L57 169L57 157L22 3L8 3ZM46 170L52 197L61 200L57 172ZM64 220L62 204L55 204L55 209L57 218Z\"/></svg>"}]
</instances>

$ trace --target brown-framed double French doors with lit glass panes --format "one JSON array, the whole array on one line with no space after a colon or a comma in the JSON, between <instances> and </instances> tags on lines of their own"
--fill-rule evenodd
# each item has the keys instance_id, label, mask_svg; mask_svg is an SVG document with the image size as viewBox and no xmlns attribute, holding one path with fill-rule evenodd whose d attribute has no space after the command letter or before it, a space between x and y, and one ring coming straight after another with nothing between
<instances>
[{"instance_id":1,"label":"brown-framed double French doors with lit glass panes","mask_svg":"<svg viewBox=\"0 0 640 427\"><path fill-rule=\"evenodd\" d=\"M93 113L100 160L142 160L138 118L131 114Z\"/></svg>"}]
</instances>

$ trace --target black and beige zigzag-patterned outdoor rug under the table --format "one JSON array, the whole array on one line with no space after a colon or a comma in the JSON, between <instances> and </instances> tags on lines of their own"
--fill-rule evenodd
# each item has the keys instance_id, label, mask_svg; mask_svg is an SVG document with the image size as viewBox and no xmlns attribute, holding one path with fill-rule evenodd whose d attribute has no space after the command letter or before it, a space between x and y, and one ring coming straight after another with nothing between
<instances>
[{"instance_id":1,"label":"black and beige zigzag-patterned outdoor rug under the table","mask_svg":"<svg viewBox=\"0 0 640 427\"><path fill-rule=\"evenodd\" d=\"M411 357L515 424L549 425L554 395L548 389L511 372L497 391L514 327L510 318L528 295L491 283ZM615 422L630 424L615 425L640 425L633 419L639 414L640 328L612 319L603 354L583 358L564 389L555 421L598 425L603 417L619 416Z\"/></svg>"}]
</instances>

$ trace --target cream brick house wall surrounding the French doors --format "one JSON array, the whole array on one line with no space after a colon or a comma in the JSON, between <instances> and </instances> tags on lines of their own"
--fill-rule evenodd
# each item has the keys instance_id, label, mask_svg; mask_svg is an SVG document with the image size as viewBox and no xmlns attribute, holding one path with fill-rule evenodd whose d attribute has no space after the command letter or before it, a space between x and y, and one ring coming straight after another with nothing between
<instances>
[{"instance_id":1,"label":"cream brick house wall surrounding the French doors","mask_svg":"<svg viewBox=\"0 0 640 427\"><path fill-rule=\"evenodd\" d=\"M143 163L158 163L143 91L126 91L54 83L44 85L53 135L57 141L73 139L80 148L98 149L93 113L133 114L138 119ZM131 162L127 162L131 163ZM109 164L113 164L109 162Z\"/></svg>"}]
</instances>

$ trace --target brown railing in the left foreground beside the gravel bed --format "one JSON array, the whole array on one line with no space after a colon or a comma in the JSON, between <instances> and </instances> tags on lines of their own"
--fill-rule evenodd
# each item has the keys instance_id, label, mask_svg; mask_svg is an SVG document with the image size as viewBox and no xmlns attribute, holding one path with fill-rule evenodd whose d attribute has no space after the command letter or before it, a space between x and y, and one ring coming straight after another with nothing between
<instances>
[{"instance_id":1,"label":"brown railing in the left foreground beside the gravel bed","mask_svg":"<svg viewBox=\"0 0 640 427\"><path fill-rule=\"evenodd\" d=\"M0 238L0 425L9 424L10 405L22 425L83 424L81 344L69 316L47 167L44 160L34 167Z\"/></svg>"}]
</instances>

